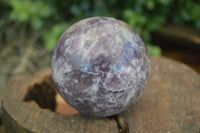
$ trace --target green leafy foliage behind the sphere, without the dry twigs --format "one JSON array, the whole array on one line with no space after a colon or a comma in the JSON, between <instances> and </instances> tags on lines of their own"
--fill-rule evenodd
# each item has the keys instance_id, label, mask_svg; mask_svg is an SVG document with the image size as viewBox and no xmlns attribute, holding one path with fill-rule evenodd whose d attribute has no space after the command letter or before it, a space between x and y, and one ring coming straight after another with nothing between
<instances>
[{"instance_id":1,"label":"green leafy foliage behind the sphere, without the dry twigs","mask_svg":"<svg viewBox=\"0 0 200 133\"><path fill-rule=\"evenodd\" d=\"M131 25L143 38L151 55L160 55L151 45L150 33L167 22L190 24L200 30L200 2L196 0L9 0L10 19L44 30L45 48L53 50L64 30L91 16L115 17ZM50 27L50 28L49 28Z\"/></svg>"}]
</instances>

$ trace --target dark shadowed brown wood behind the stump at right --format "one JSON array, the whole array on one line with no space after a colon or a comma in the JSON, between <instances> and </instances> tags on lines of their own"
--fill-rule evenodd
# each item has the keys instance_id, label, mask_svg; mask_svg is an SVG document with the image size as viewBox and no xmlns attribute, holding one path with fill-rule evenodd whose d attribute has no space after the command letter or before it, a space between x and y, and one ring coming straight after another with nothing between
<instances>
[{"instance_id":1,"label":"dark shadowed brown wood behind the stump at right","mask_svg":"<svg viewBox=\"0 0 200 133\"><path fill-rule=\"evenodd\" d=\"M162 56L189 65L200 74L200 32L188 26L167 24L152 33L153 44Z\"/></svg>"}]
</instances>

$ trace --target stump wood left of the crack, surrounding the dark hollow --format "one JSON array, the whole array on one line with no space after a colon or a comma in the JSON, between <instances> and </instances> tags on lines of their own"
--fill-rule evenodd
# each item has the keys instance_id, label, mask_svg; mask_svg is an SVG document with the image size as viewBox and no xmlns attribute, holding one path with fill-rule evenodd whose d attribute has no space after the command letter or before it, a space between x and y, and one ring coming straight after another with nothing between
<instances>
[{"instance_id":1,"label":"stump wood left of the crack, surrounding the dark hollow","mask_svg":"<svg viewBox=\"0 0 200 133\"><path fill-rule=\"evenodd\" d=\"M62 115L50 109L48 99L34 93L37 101L24 101L31 88L40 89L46 84L46 89L52 89L51 72L49 69L38 72L33 77L14 77L7 86L7 93L2 98L3 123L8 133L116 133L117 123L114 119L93 118L81 114ZM49 85L47 85L49 84ZM43 92L43 91L42 91ZM31 92L32 93L32 92ZM50 93L48 93L50 94ZM53 96L53 95L50 95ZM30 97L30 96L29 96ZM26 99L27 100L27 99ZM46 101L46 102L44 102ZM37 104L40 102L40 106ZM47 106L44 106L46 103ZM50 109L45 109L46 107Z\"/></svg>"}]
</instances>

